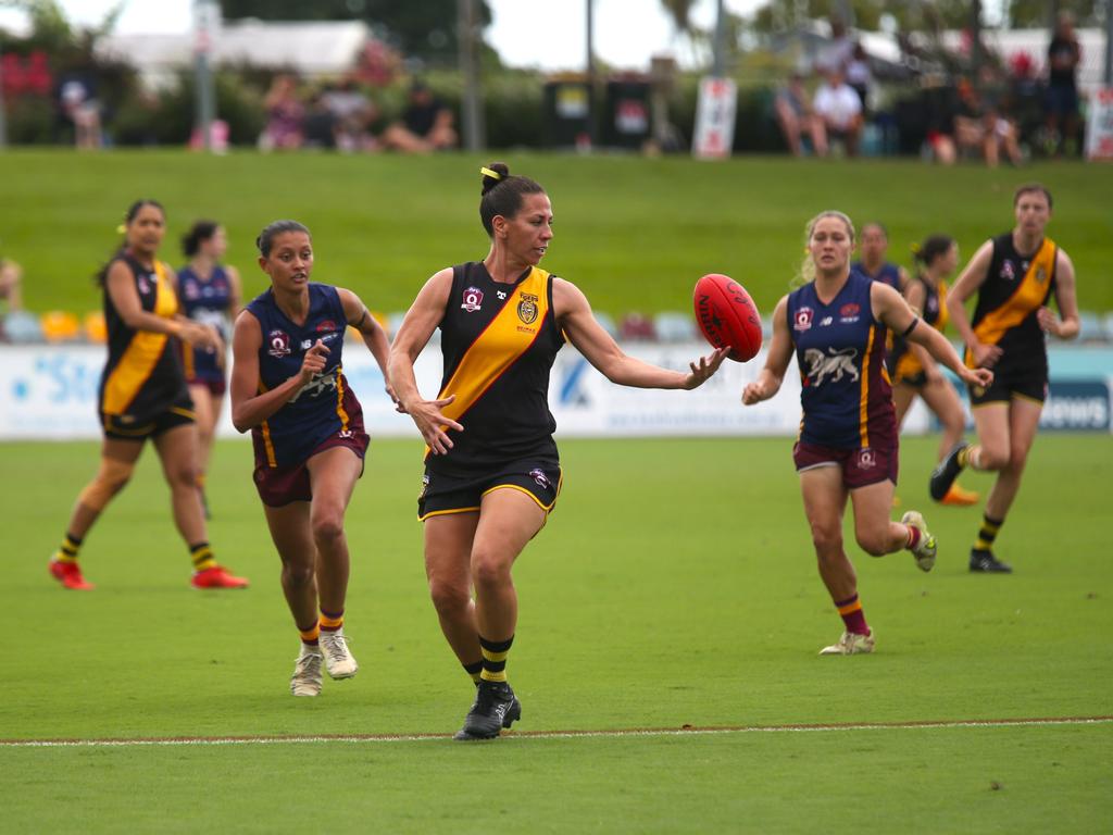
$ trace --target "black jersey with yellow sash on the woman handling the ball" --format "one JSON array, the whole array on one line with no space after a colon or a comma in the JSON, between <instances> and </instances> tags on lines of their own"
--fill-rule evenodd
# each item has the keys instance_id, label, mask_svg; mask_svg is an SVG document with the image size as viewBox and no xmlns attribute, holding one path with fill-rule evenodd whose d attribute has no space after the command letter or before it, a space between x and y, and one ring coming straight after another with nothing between
<instances>
[{"instance_id":1,"label":"black jersey with yellow sash on the woman handling the ball","mask_svg":"<svg viewBox=\"0 0 1113 835\"><path fill-rule=\"evenodd\" d=\"M441 320L441 393L456 399L445 416L446 455L427 455L442 473L474 471L528 456L556 456L549 411L549 373L564 336L556 325L552 276L531 267L513 284L496 283L481 262L452 268L452 292Z\"/></svg>"}]
</instances>

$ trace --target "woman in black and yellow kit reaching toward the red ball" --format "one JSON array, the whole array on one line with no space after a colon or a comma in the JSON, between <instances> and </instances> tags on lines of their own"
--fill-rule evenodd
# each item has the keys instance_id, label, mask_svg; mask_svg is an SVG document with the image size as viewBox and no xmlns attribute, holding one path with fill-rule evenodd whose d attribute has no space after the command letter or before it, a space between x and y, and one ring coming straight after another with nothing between
<instances>
[{"instance_id":1,"label":"woman in black and yellow kit reaching toward the red ball","mask_svg":"<svg viewBox=\"0 0 1113 835\"><path fill-rule=\"evenodd\" d=\"M553 237L544 189L501 163L482 174L487 256L434 274L391 351L391 381L429 445L417 512L430 593L477 685L457 739L498 736L521 717L505 671L518 622L511 568L560 492L548 390L565 338L611 382L642 389L695 389L727 353L691 363L688 374L627 356L575 285L538 268ZM413 364L439 327L444 377L436 399L424 400Z\"/></svg>"}]
</instances>

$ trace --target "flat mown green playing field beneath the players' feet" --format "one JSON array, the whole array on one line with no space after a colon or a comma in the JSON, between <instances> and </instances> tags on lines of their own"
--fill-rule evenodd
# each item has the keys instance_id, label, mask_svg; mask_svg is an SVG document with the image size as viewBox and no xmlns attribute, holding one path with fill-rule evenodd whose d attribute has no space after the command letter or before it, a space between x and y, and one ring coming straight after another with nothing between
<instances>
[{"instance_id":1,"label":"flat mown green playing field beneath the players' feet","mask_svg":"<svg viewBox=\"0 0 1113 835\"><path fill-rule=\"evenodd\" d=\"M449 735L471 686L424 588L418 444L372 446L347 518L362 670L316 700L287 690L297 635L247 444L221 442L210 481L217 556L253 580L225 593L188 587L150 451L87 540L97 590L62 591L46 560L97 445L0 444L0 739L188 738L0 745L2 828L1107 831L1113 439L1037 440L998 538L1009 577L966 572L979 510L925 507L935 439L907 440L899 494L940 557L923 574L851 548L878 636L858 658L816 655L841 625L789 446L565 441L559 509L515 569L523 720L466 745ZM1102 720L1051 721L1071 717ZM356 738L312 740L337 736Z\"/></svg>"}]
</instances>

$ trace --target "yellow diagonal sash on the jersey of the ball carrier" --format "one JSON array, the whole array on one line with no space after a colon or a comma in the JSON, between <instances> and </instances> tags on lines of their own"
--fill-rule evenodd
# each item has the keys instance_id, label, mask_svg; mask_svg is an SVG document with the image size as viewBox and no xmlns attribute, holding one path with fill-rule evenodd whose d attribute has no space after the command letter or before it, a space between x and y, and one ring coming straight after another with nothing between
<instances>
[{"instance_id":1,"label":"yellow diagonal sash on the jersey of the ball carrier","mask_svg":"<svg viewBox=\"0 0 1113 835\"><path fill-rule=\"evenodd\" d=\"M441 410L445 418L460 420L491 384L529 351L549 314L548 287L549 273L533 267L486 330L469 346L439 395L456 395Z\"/></svg>"}]
</instances>

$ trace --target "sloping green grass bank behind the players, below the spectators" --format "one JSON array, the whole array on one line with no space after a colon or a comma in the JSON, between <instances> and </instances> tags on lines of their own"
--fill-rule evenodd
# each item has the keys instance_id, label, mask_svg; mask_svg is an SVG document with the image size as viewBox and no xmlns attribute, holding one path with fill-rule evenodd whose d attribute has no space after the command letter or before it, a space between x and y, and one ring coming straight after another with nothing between
<instances>
[{"instance_id":1,"label":"sloping green grass bank behind the players, below the spectators","mask_svg":"<svg viewBox=\"0 0 1113 835\"><path fill-rule=\"evenodd\" d=\"M964 256L1009 228L1013 189L1044 181L1055 198L1048 234L1073 257L1084 310L1113 308L1109 195L1113 167L1063 163L1017 170L918 160L800 161L739 158L574 157L511 154L511 170L540 180L553 200L555 239L543 266L575 282L597 310L689 308L708 272L738 278L762 311L782 295L802 255L804 225L839 208L890 230L894 259L909 245L954 235ZM441 267L486 254L479 223L486 157L344 157L184 151L18 150L0 154L0 254L26 267L28 306L96 310L89 281L118 242L137 197L169 215L162 256L179 264L180 235L195 218L229 230L228 261L245 289L264 288L253 242L278 217L314 232L321 281L351 287L378 311L404 311Z\"/></svg>"}]
</instances>

